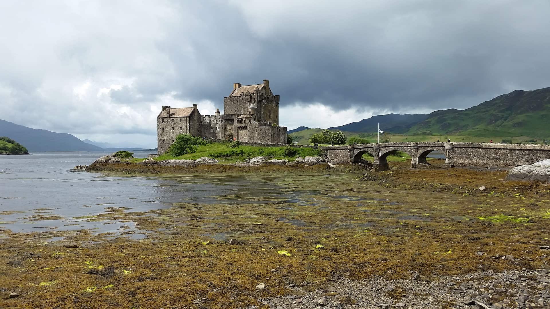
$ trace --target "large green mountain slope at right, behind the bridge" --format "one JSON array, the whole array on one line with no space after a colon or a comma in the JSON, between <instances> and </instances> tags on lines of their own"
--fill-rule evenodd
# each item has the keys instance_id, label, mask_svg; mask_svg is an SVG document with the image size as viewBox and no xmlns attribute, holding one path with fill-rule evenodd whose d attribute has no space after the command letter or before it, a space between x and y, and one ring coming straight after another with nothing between
<instances>
[{"instance_id":1,"label":"large green mountain slope at right, behind the bridge","mask_svg":"<svg viewBox=\"0 0 550 309\"><path fill-rule=\"evenodd\" d=\"M445 109L431 113L412 126L408 134L472 136L550 136L550 87L514 90L460 111Z\"/></svg>"}]
</instances>

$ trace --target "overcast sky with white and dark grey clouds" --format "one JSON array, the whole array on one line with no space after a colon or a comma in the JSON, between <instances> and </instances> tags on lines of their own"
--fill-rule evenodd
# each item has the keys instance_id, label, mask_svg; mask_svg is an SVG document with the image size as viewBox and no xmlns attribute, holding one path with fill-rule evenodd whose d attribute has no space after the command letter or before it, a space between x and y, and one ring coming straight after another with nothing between
<instances>
[{"instance_id":1,"label":"overcast sky with white and dark grey clouds","mask_svg":"<svg viewBox=\"0 0 550 309\"><path fill-rule=\"evenodd\" d=\"M156 146L162 105L270 80L280 125L550 86L548 0L0 1L0 119Z\"/></svg>"}]
</instances>

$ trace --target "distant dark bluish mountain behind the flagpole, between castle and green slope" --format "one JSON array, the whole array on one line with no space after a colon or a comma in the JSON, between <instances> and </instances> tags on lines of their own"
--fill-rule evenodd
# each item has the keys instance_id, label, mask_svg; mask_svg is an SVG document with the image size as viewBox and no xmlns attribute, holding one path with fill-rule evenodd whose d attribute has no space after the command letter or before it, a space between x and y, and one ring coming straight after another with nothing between
<instances>
[{"instance_id":1,"label":"distant dark bluish mountain behind the flagpole, between castle and green slope","mask_svg":"<svg viewBox=\"0 0 550 309\"><path fill-rule=\"evenodd\" d=\"M405 133L415 124L426 120L426 114L387 114L372 116L368 119L363 119L359 122L344 124L341 126L333 126L329 130L340 130L350 132L373 132L378 131L378 123L380 129L389 133Z\"/></svg>"}]
</instances>

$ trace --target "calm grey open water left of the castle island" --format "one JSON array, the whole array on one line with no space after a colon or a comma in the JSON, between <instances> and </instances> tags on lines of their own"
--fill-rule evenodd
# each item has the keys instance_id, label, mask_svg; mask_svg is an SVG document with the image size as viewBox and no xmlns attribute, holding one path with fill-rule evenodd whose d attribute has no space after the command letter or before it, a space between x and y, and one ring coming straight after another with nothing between
<instances>
[{"instance_id":1,"label":"calm grey open water left of the castle island","mask_svg":"<svg viewBox=\"0 0 550 309\"><path fill-rule=\"evenodd\" d=\"M125 211L149 211L171 207L176 202L272 202L288 194L269 181L231 175L113 176L73 169L76 165L89 165L105 154L60 152L0 156L0 230L17 233L85 228L95 233L118 234L128 227L135 230L134 223L97 222L85 217L109 209L123 209L120 207ZM147 152L135 152L134 156L146 157ZM239 200L235 200L235 196L239 196ZM250 200L243 200L241 196ZM143 238L145 233L131 237Z\"/></svg>"}]
</instances>

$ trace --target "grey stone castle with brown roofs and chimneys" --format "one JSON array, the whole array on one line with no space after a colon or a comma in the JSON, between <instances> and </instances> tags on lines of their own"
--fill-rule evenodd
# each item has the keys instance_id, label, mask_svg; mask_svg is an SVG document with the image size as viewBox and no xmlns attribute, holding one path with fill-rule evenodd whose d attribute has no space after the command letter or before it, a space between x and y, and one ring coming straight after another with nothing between
<instances>
[{"instance_id":1,"label":"grey stone castle with brown roofs and chimneys","mask_svg":"<svg viewBox=\"0 0 550 309\"><path fill-rule=\"evenodd\" d=\"M263 84L233 84L233 91L223 98L224 114L201 115L193 107L163 106L157 116L158 154L172 145L178 134L207 139L237 140L262 144L286 144L287 128L278 126L279 96L273 95L270 81Z\"/></svg>"}]
</instances>

